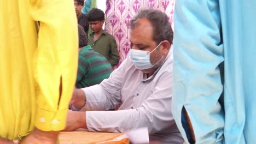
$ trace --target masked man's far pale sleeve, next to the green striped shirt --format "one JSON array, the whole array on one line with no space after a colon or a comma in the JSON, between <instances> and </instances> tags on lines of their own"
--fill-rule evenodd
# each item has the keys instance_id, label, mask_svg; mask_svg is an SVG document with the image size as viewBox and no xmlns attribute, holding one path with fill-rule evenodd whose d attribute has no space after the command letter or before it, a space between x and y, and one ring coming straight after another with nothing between
<instances>
[{"instance_id":1,"label":"masked man's far pale sleeve, next to the green striped shirt","mask_svg":"<svg viewBox=\"0 0 256 144\"><path fill-rule=\"evenodd\" d=\"M86 95L86 111L107 111L121 103L121 86L127 59L99 85L82 88ZM74 109L75 110L75 109Z\"/></svg>"}]
</instances>

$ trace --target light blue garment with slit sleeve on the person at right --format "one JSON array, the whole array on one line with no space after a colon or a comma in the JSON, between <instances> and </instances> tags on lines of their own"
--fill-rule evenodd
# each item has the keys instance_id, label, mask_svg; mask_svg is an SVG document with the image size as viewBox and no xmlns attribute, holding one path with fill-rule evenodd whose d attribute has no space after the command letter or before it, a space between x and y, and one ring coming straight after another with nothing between
<instances>
[{"instance_id":1,"label":"light blue garment with slit sleeve on the person at right","mask_svg":"<svg viewBox=\"0 0 256 144\"><path fill-rule=\"evenodd\" d=\"M179 0L174 11L172 112L184 140L183 106L196 143L255 143L256 1Z\"/></svg>"}]
</instances>

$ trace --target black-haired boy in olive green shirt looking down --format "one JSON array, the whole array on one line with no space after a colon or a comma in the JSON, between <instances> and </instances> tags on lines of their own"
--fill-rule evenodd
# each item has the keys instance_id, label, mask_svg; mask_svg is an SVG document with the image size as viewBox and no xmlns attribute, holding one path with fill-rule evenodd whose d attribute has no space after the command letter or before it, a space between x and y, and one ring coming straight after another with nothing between
<instances>
[{"instance_id":1,"label":"black-haired boy in olive green shirt looking down","mask_svg":"<svg viewBox=\"0 0 256 144\"><path fill-rule=\"evenodd\" d=\"M100 9L92 8L88 13L88 21L93 31L89 34L88 45L91 45L94 51L106 57L112 67L114 67L119 62L119 52L113 35L102 29L105 21L104 12Z\"/></svg>"}]
</instances>

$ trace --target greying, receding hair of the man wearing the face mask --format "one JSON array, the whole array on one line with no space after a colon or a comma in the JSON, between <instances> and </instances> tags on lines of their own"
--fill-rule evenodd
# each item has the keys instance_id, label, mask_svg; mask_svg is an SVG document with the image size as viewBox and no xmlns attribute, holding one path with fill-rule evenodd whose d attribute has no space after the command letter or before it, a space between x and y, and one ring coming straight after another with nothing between
<instances>
[{"instance_id":1,"label":"greying, receding hair of the man wearing the face mask","mask_svg":"<svg viewBox=\"0 0 256 144\"><path fill-rule=\"evenodd\" d=\"M140 9L138 14L130 21L130 28L136 26L139 19L146 18L153 27L153 40L159 44L162 40L168 40L172 44L173 31L168 16L156 9Z\"/></svg>"}]
</instances>

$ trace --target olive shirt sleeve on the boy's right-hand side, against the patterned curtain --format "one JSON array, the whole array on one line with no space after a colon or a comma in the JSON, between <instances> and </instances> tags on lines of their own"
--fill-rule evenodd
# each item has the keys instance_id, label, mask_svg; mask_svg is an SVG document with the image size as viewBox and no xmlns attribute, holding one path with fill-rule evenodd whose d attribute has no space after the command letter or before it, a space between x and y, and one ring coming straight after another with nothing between
<instances>
[{"instance_id":1,"label":"olive shirt sleeve on the boy's right-hand side, against the patterned curtain","mask_svg":"<svg viewBox=\"0 0 256 144\"><path fill-rule=\"evenodd\" d=\"M113 36L110 38L109 50L109 63L114 66L115 64L118 64L120 57L117 49L117 42Z\"/></svg>"}]
</instances>

